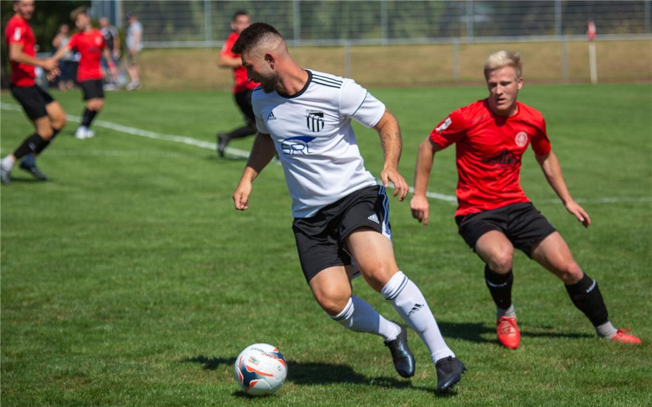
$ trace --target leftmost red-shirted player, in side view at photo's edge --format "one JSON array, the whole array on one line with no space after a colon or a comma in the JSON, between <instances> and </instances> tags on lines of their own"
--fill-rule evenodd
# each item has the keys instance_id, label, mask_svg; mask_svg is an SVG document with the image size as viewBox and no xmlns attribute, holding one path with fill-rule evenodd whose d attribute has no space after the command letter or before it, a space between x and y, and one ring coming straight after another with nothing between
<instances>
[{"instance_id":1,"label":"leftmost red-shirted player, in side view at photo's edge","mask_svg":"<svg viewBox=\"0 0 652 407\"><path fill-rule=\"evenodd\" d=\"M23 110L36 128L12 154L0 161L0 180L3 184L11 182L11 170L14 163L24 157L20 168L29 171L39 180L46 180L35 162L42 150L52 142L57 133L66 124L66 114L61 105L35 83L34 67L40 66L48 72L57 70L54 59L37 59L34 44L36 38L29 27L29 21L34 14L33 1L14 1L16 14L7 21L5 39L11 61L11 93L23 106Z\"/></svg>"}]
</instances>

